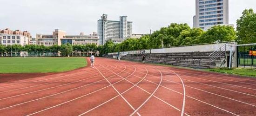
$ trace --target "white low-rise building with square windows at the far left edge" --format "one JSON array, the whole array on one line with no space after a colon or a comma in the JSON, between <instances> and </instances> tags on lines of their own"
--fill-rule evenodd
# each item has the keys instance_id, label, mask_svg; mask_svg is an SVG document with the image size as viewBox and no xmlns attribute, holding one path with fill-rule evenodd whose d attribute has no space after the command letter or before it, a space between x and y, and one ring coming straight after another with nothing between
<instances>
[{"instance_id":1,"label":"white low-rise building with square windows at the far left edge","mask_svg":"<svg viewBox=\"0 0 256 116\"><path fill-rule=\"evenodd\" d=\"M23 35L0 34L0 45L28 45L29 38Z\"/></svg>"}]
</instances>

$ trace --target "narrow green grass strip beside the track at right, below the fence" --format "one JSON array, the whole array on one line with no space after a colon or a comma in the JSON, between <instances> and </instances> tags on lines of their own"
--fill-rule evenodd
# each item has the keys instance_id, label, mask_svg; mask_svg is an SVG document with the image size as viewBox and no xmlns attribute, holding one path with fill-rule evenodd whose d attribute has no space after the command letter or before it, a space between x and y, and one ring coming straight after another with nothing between
<instances>
[{"instance_id":1,"label":"narrow green grass strip beside the track at right, below the fence","mask_svg":"<svg viewBox=\"0 0 256 116\"><path fill-rule=\"evenodd\" d=\"M206 69L205 71L215 71L215 72L221 72L221 73L227 73L227 74L236 74L236 75L256 77L256 70L242 69L242 68L237 68L237 69Z\"/></svg>"}]
</instances>

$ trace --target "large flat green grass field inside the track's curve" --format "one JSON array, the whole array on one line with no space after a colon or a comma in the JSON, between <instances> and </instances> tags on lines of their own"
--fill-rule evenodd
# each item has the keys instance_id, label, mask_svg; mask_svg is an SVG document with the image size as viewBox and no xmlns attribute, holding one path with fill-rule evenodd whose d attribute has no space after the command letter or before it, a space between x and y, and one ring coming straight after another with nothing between
<instances>
[{"instance_id":1,"label":"large flat green grass field inside the track's curve","mask_svg":"<svg viewBox=\"0 0 256 116\"><path fill-rule=\"evenodd\" d=\"M63 72L86 65L85 58L0 58L0 73Z\"/></svg>"}]
</instances>

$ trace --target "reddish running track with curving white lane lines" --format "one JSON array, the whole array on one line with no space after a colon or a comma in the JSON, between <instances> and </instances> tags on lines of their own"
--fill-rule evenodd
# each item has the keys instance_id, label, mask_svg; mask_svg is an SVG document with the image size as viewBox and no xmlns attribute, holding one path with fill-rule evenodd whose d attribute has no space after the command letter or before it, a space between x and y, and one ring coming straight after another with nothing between
<instances>
[{"instance_id":1,"label":"reddish running track with curving white lane lines","mask_svg":"<svg viewBox=\"0 0 256 116\"><path fill-rule=\"evenodd\" d=\"M95 68L0 77L0 116L256 116L255 78L95 61Z\"/></svg>"}]
</instances>

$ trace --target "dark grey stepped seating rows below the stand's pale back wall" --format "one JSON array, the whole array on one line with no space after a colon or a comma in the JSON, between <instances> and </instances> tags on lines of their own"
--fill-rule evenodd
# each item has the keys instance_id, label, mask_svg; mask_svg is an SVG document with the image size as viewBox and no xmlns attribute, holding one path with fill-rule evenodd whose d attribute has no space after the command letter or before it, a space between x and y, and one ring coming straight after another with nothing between
<instances>
[{"instance_id":1,"label":"dark grey stepped seating rows below the stand's pale back wall","mask_svg":"<svg viewBox=\"0 0 256 116\"><path fill-rule=\"evenodd\" d=\"M211 52L188 52L188 53L154 53L144 54L145 62L158 63L158 64L170 64L176 66L185 66L193 68L211 68L216 67L216 62L210 63L209 54ZM128 54L123 56L122 59L142 61L143 54ZM225 55L217 58L217 62L221 62L225 59Z\"/></svg>"}]
</instances>

